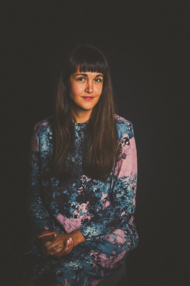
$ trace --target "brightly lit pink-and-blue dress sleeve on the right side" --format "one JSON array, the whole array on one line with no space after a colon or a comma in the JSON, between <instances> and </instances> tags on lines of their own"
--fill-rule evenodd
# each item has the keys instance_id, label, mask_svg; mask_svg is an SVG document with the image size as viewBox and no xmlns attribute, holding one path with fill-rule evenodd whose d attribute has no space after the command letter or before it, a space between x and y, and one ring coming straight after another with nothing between
<instances>
[{"instance_id":1,"label":"brightly lit pink-and-blue dress sleeve on the right side","mask_svg":"<svg viewBox=\"0 0 190 286\"><path fill-rule=\"evenodd\" d=\"M111 203L80 226L86 240L109 234L128 222L135 212L137 186L137 150L133 125L127 125L120 140L121 156L115 164Z\"/></svg>"}]
</instances>

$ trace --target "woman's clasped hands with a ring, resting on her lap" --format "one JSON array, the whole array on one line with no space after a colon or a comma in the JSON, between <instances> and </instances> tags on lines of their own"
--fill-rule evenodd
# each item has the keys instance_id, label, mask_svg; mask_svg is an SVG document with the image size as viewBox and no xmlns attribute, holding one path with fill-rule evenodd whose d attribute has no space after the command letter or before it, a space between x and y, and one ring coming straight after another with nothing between
<instances>
[{"instance_id":1,"label":"woman's clasped hands with a ring, resting on her lap","mask_svg":"<svg viewBox=\"0 0 190 286\"><path fill-rule=\"evenodd\" d=\"M42 245L42 253L45 257L64 257L73 250L73 239L68 234L43 231L38 235ZM58 245L58 248L56 247Z\"/></svg>"}]
</instances>

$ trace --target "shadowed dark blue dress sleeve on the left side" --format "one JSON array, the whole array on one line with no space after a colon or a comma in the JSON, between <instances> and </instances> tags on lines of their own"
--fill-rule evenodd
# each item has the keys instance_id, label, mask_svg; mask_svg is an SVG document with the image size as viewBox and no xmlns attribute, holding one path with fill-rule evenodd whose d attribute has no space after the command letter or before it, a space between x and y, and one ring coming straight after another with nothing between
<instances>
[{"instance_id":1,"label":"shadowed dark blue dress sleeve on the left side","mask_svg":"<svg viewBox=\"0 0 190 286\"><path fill-rule=\"evenodd\" d=\"M29 218L34 226L33 233L39 234L42 231L54 231L54 223L42 202L40 194L39 130L36 125L34 125L30 142L29 184L26 196L26 207Z\"/></svg>"}]
</instances>

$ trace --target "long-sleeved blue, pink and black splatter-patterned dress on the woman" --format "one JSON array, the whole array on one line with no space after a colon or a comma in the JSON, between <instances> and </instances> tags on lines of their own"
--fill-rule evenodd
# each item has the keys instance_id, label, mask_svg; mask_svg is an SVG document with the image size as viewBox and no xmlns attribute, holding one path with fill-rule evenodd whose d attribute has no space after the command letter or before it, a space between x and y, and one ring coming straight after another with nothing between
<instances>
[{"instance_id":1,"label":"long-sleeved blue, pink and black splatter-patterned dress on the woman","mask_svg":"<svg viewBox=\"0 0 190 286\"><path fill-rule=\"evenodd\" d=\"M66 183L56 177L44 179L52 156L53 116L34 125L27 196L34 233L47 230L70 233L79 229L86 240L58 259L43 257L34 236L21 257L19 278L58 282L63 286L96 286L117 271L125 254L137 246L139 237L134 220L137 152L133 125L117 114L115 119L122 157L115 162L106 182L87 177L82 171L81 146L88 122L73 122L72 161L77 178ZM119 173L118 163L121 163Z\"/></svg>"}]
</instances>

